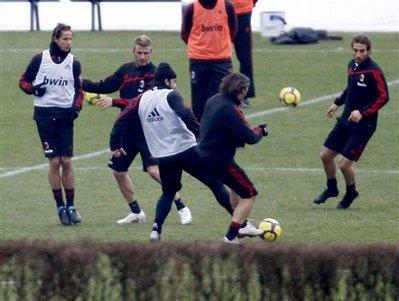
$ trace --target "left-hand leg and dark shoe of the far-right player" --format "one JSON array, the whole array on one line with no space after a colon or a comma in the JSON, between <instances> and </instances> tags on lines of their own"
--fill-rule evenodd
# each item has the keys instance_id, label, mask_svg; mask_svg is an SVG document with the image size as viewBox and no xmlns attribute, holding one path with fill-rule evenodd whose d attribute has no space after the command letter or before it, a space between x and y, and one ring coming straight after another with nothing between
<instances>
[{"instance_id":1,"label":"left-hand leg and dark shoe of the far-right player","mask_svg":"<svg viewBox=\"0 0 399 301\"><path fill-rule=\"evenodd\" d=\"M337 152L323 146L320 152L320 159L323 163L324 172L327 177L327 186L324 191L314 199L314 203L322 204L331 197L336 197L339 194L336 179L336 166L334 158Z\"/></svg>"}]
</instances>

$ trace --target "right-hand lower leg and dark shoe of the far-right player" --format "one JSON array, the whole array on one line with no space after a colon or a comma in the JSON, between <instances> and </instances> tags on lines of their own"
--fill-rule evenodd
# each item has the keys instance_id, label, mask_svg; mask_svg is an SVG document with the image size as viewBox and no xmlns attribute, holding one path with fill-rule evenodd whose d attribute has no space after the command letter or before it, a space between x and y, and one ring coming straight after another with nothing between
<instances>
[{"instance_id":1,"label":"right-hand lower leg and dark shoe of the far-right player","mask_svg":"<svg viewBox=\"0 0 399 301\"><path fill-rule=\"evenodd\" d=\"M354 199L359 196L355 186L355 169L353 168L353 161L342 157L338 162L339 169L341 170L346 184L346 192L342 200L339 202L338 209L347 209Z\"/></svg>"}]
</instances>

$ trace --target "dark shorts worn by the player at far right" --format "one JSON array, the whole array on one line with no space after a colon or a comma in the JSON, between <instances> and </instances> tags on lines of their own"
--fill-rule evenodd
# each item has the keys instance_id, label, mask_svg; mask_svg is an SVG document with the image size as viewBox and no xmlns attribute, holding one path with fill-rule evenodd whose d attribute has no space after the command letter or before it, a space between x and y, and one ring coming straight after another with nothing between
<instances>
[{"instance_id":1,"label":"dark shorts worn by the player at far right","mask_svg":"<svg viewBox=\"0 0 399 301\"><path fill-rule=\"evenodd\" d=\"M351 161L357 161L374 132L374 126L338 120L324 141L324 146Z\"/></svg>"}]
</instances>

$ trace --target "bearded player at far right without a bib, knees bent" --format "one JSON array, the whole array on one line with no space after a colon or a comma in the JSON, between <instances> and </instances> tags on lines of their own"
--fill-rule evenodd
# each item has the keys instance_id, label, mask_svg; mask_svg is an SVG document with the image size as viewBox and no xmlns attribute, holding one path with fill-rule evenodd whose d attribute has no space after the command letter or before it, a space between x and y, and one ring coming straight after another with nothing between
<instances>
[{"instance_id":1,"label":"bearded player at far right without a bib, knees bent","mask_svg":"<svg viewBox=\"0 0 399 301\"><path fill-rule=\"evenodd\" d=\"M339 194L334 158L341 154L338 167L346 184L346 193L338 209L347 209L359 195L355 187L357 162L377 128L378 110L389 100L388 86L381 68L371 59L371 41L357 35L351 42L353 59L348 64L347 86L340 97L327 110L333 117L338 107L344 105L334 128L324 141L320 159L327 177L327 187L314 199L316 204Z\"/></svg>"}]
</instances>

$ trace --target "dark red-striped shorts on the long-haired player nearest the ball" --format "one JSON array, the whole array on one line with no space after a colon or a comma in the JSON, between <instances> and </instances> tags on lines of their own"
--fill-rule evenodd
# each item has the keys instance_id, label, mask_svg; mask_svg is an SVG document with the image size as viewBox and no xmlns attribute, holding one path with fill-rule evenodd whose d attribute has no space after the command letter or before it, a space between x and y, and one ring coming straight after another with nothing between
<instances>
[{"instance_id":1,"label":"dark red-striped shorts on the long-haired player nearest the ball","mask_svg":"<svg viewBox=\"0 0 399 301\"><path fill-rule=\"evenodd\" d=\"M248 199L258 195L254 184L236 162L224 167L213 165L210 168L213 170L218 180L231 188L231 190L241 198Z\"/></svg>"}]
</instances>

